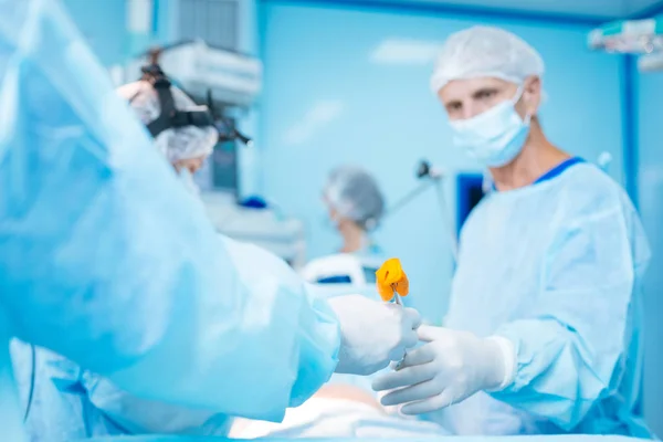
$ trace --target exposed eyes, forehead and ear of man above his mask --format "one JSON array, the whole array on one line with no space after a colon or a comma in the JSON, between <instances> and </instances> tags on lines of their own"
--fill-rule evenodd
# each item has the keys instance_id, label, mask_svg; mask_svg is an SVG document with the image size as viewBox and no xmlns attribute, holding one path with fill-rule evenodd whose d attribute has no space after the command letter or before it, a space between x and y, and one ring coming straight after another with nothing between
<instances>
[{"instance_id":1,"label":"exposed eyes, forehead and ear of man above his mask","mask_svg":"<svg viewBox=\"0 0 663 442\"><path fill-rule=\"evenodd\" d=\"M512 99L518 86L494 77L454 80L438 92L449 119L469 119L491 107ZM535 115L540 97L540 81L529 77L523 85L523 97L516 104L520 117Z\"/></svg>"}]
</instances>

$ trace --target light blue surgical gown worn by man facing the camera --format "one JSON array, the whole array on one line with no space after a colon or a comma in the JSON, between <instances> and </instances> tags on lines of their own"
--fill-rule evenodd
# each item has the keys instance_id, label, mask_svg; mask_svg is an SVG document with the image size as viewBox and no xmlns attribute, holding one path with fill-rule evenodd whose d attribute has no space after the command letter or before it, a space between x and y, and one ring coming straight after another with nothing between
<instances>
[{"instance_id":1,"label":"light blue surgical gown worn by man facing the camera","mask_svg":"<svg viewBox=\"0 0 663 442\"><path fill-rule=\"evenodd\" d=\"M511 339L516 376L444 410L443 424L649 435L636 412L649 260L629 198L589 164L484 198L463 227L445 326Z\"/></svg>"}]
</instances>

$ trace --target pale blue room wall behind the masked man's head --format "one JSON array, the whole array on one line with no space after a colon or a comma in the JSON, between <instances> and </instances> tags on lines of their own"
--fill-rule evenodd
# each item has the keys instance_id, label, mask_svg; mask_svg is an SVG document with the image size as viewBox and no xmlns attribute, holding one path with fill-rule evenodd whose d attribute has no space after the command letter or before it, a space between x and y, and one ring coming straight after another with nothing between
<instances>
[{"instance_id":1,"label":"pale blue room wall behind the masked man's head","mask_svg":"<svg viewBox=\"0 0 663 442\"><path fill-rule=\"evenodd\" d=\"M552 141L592 161L609 151L610 173L622 181L619 57L588 51L583 25L483 22L514 31L540 51L548 94L540 116ZM481 169L450 146L443 110L429 91L431 48L477 23L408 11L261 3L262 189L305 221L309 257L339 246L324 223L320 192L329 169L340 164L364 165L393 203L418 185L418 161L430 159L449 173L446 210L454 217L455 173ZM387 254L402 260L411 278L408 302L435 323L446 309L453 271L445 215L431 189L387 218L375 235Z\"/></svg>"}]
</instances>

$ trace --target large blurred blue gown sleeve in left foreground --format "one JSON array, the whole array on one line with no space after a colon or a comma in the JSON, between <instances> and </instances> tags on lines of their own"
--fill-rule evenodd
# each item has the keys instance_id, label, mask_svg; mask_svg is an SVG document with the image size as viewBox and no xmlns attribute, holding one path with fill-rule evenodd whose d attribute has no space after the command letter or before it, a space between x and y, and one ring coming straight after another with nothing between
<instances>
[{"instance_id":1,"label":"large blurred blue gown sleeve in left foreground","mask_svg":"<svg viewBox=\"0 0 663 442\"><path fill-rule=\"evenodd\" d=\"M12 333L146 399L278 420L336 318L223 240L54 0L0 0L0 299Z\"/></svg>"}]
</instances>

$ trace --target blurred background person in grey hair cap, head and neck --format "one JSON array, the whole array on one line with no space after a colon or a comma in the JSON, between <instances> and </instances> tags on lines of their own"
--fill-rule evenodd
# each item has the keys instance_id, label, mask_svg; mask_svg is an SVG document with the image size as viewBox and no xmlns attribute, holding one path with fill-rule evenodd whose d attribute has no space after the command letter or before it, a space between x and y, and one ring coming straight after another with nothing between
<instances>
[{"instance_id":1,"label":"blurred background person in grey hair cap, head and neck","mask_svg":"<svg viewBox=\"0 0 663 442\"><path fill-rule=\"evenodd\" d=\"M385 214L385 197L368 171L356 166L332 170L323 190L323 201L329 220L343 239L340 253L380 253L370 232Z\"/></svg>"}]
</instances>

